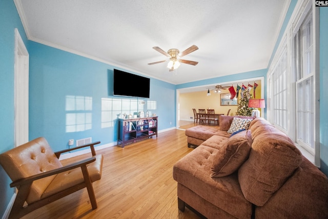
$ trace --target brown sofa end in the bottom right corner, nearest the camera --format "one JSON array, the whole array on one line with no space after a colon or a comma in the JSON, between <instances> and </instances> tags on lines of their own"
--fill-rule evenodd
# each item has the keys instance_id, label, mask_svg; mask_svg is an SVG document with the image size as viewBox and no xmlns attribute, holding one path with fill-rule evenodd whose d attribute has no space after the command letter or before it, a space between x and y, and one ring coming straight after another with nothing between
<instances>
[{"instance_id":1,"label":"brown sofa end in the bottom right corner, nearest the camera","mask_svg":"<svg viewBox=\"0 0 328 219\"><path fill-rule=\"evenodd\" d=\"M328 218L328 179L303 156L294 174L262 207L255 218Z\"/></svg>"}]
</instances>

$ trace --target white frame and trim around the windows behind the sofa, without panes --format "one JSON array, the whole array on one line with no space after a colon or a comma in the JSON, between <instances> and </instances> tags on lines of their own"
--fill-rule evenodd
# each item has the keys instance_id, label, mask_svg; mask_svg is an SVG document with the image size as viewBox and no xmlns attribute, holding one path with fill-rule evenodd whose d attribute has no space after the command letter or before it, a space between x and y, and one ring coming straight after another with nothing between
<instances>
[{"instance_id":1,"label":"white frame and trim around the windows behind the sofa, without panes","mask_svg":"<svg viewBox=\"0 0 328 219\"><path fill-rule=\"evenodd\" d=\"M295 76L295 54L294 54L294 36L295 33L299 30L304 21L308 18L306 17L309 13L312 13L312 39L313 39L313 87L314 97L313 97L313 107L314 107L314 121L313 121L313 138L314 138L314 150L309 150L309 148L304 147L302 144L297 142L297 113L296 113L296 76ZM320 167L320 139L319 139L319 10L313 5L313 2L310 0L298 1L294 9L293 15L289 21L289 24L283 34L280 45L278 46L277 52L274 55L273 61L270 64L268 71L268 120L274 124L278 129L285 132L291 139L296 143L296 146L301 150L303 155L308 158L313 164L317 167ZM276 124L275 119L275 110L274 110L274 98L273 98L273 74L277 65L279 65L280 58L283 50L286 48L287 51L287 62L286 62L286 72L287 78L286 83L288 83L288 90L286 98L289 101L286 103L287 107L287 117L288 124L286 126L281 126L281 124ZM301 98L301 97L298 97Z\"/></svg>"}]
</instances>

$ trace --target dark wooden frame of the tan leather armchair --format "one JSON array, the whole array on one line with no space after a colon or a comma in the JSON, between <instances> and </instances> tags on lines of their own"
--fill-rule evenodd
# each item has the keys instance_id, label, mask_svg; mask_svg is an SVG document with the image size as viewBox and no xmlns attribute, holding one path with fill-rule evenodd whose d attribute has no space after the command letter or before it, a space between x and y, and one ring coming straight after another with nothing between
<instances>
[{"instance_id":1,"label":"dark wooden frame of the tan leather armchair","mask_svg":"<svg viewBox=\"0 0 328 219\"><path fill-rule=\"evenodd\" d=\"M80 149L80 148L85 148L85 147L90 147L91 149L91 153L92 156L96 155L95 149L94 149L94 145L99 144L100 142L94 142L94 143L90 143L90 144L86 144L83 146L79 146L79 147L75 147L75 148L71 148L71 149L66 149L66 150L61 150L58 152L55 152L55 155L57 158L59 158L60 154L65 153L65 152L69 152L72 150L76 150L76 149ZM19 218L22 217L40 207L43 207L51 202L54 202L56 200L58 200L59 198L65 197L73 192L76 192L80 189L83 189L85 187L87 187L88 190L88 194L89 194L89 198L90 198L90 202L91 202L91 206L92 209L96 209L97 208L97 202L96 202L96 197L93 191L93 187L92 187L92 182L90 180L89 177L89 172L87 169L87 164L90 164L92 162L94 162L96 160L95 157L90 157L87 158L83 161L79 161L61 168L57 168L54 170L50 170L47 172L43 172L43 173L39 173L33 176L29 176L26 178L20 178L19 180L16 180L15 182L12 182L10 184L10 187L16 187L18 189L17 191L17 195L14 201L14 204L12 206L11 212L9 214L9 218ZM35 180L39 180L40 178L44 178L47 176L51 176L51 175L55 175L61 172L65 172L68 170L72 170L75 168L81 168L81 171L83 173L83 177L84 177L84 182L80 183L78 185L75 185L71 188L68 188L66 190L60 191L56 194L50 195L48 197L42 198L36 202L33 202L31 204L28 204L27 206L24 206L25 204L25 200L29 194L30 191L30 187L33 183L33 181Z\"/></svg>"}]
</instances>

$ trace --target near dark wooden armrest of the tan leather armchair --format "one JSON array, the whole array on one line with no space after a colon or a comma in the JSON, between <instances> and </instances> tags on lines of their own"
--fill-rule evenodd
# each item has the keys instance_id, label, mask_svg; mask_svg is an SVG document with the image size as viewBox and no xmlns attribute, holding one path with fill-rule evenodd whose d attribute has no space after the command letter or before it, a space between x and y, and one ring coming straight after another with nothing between
<instances>
[{"instance_id":1,"label":"near dark wooden armrest of the tan leather armchair","mask_svg":"<svg viewBox=\"0 0 328 219\"><path fill-rule=\"evenodd\" d=\"M32 176L29 176L29 177L26 177L26 178L20 178L19 180L16 180L15 182L12 182L10 184L10 187L18 187L18 186L22 186L22 185L26 185L26 184L31 185L33 183L33 181L39 180L40 178L55 175L55 174L65 172L65 171L68 171L68 170L71 170L71 169L75 169L75 168L78 168L78 167L81 167L81 168L86 167L87 164L90 164L90 163L94 162L95 160L96 160L95 157L89 157L89 158L87 158L83 161L79 161L79 162L76 162L76 163L73 163L73 164L70 164L70 165L67 165L67 166L64 166L64 167L60 167L60 168L57 168L57 169L54 169L54 170L50 170L50 171L46 171L46 172L39 173L39 174L36 174L36 175L32 175Z\"/></svg>"}]
</instances>

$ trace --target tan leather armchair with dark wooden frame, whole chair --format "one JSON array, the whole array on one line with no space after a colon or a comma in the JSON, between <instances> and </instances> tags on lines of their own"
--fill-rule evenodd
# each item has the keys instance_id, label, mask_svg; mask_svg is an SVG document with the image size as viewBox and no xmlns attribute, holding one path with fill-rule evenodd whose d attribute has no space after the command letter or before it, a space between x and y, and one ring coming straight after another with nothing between
<instances>
[{"instance_id":1,"label":"tan leather armchair with dark wooden frame, whole chair","mask_svg":"<svg viewBox=\"0 0 328 219\"><path fill-rule=\"evenodd\" d=\"M18 189L9 218L22 217L68 194L87 187L92 209L97 202L92 183L100 180L103 155L96 155L90 143L54 153L44 137L0 154L0 164ZM58 160L61 153L90 147L92 157L67 166ZM25 204L27 203L27 205Z\"/></svg>"}]
</instances>

